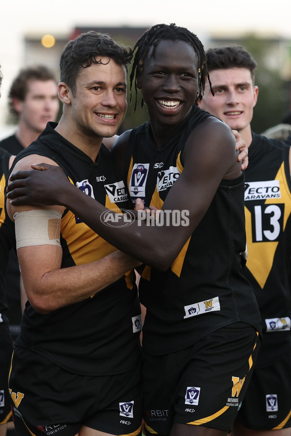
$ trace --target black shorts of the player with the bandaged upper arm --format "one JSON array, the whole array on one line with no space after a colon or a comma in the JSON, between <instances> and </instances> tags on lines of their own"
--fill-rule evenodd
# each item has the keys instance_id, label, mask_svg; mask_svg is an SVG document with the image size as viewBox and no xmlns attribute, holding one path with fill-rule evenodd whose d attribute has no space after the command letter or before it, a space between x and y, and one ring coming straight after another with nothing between
<instances>
[{"instance_id":1,"label":"black shorts of the player with the bandaged upper arm","mask_svg":"<svg viewBox=\"0 0 291 436\"><path fill-rule=\"evenodd\" d=\"M141 370L72 374L16 347L9 390L17 436L75 436L82 425L113 435L141 434Z\"/></svg>"}]
</instances>

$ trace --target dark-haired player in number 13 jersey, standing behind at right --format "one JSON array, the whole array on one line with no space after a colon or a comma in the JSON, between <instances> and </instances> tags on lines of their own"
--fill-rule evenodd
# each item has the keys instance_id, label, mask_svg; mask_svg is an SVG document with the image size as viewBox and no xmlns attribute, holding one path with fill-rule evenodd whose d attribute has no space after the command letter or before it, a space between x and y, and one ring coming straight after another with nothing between
<instances>
[{"instance_id":1,"label":"dark-haired player in number 13 jersey, standing behind at right","mask_svg":"<svg viewBox=\"0 0 291 436\"><path fill-rule=\"evenodd\" d=\"M291 435L290 149L251 131L258 98L256 62L241 46L208 50L209 82L200 107L249 148L245 171L248 257L245 274L259 302L263 342L235 423L235 436Z\"/></svg>"}]
</instances>

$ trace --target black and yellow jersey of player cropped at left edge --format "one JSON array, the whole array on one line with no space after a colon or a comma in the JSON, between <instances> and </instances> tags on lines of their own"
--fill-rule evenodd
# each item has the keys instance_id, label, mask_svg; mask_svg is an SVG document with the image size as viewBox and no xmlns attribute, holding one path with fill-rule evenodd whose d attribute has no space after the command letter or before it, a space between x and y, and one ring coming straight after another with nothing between
<instances>
[{"instance_id":1,"label":"black and yellow jersey of player cropped at left edge","mask_svg":"<svg viewBox=\"0 0 291 436\"><path fill-rule=\"evenodd\" d=\"M11 226L5 220L5 184L9 173L9 159L11 154L0 148L0 323L7 321L7 301L4 293L4 275L8 262L9 251L12 247Z\"/></svg>"}]
</instances>

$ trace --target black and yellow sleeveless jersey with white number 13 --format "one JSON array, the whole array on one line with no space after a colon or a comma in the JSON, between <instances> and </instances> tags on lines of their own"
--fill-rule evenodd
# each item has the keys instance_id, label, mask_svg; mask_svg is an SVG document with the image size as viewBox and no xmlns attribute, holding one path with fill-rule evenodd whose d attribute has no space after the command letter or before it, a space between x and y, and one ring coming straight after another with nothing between
<instances>
[{"instance_id":1,"label":"black and yellow sleeveless jersey with white number 13","mask_svg":"<svg viewBox=\"0 0 291 436\"><path fill-rule=\"evenodd\" d=\"M291 344L290 147L280 140L252 136L245 171L245 275L262 317L264 335L257 366L265 366Z\"/></svg>"}]
</instances>

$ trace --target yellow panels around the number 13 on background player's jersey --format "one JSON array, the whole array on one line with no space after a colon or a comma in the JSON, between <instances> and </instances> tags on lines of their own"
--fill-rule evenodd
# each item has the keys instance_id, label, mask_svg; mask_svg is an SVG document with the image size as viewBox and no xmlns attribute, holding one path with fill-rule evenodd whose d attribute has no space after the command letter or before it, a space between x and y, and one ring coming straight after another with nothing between
<instances>
[{"instance_id":1,"label":"yellow panels around the number 13 on background player's jersey","mask_svg":"<svg viewBox=\"0 0 291 436\"><path fill-rule=\"evenodd\" d=\"M291 214L291 193L288 187L288 183L285 175L284 163L280 166L275 180L279 180L281 198L267 199L265 204L284 203L284 217L283 217L283 231L287 220ZM252 216L249 210L245 207L245 229L246 229L246 241L247 241L247 262L246 266L252 273L254 278L259 283L259 286L263 288L271 272L275 251L277 249L278 242L253 242L252 237ZM264 268L261 265L264 265Z\"/></svg>"}]
</instances>

